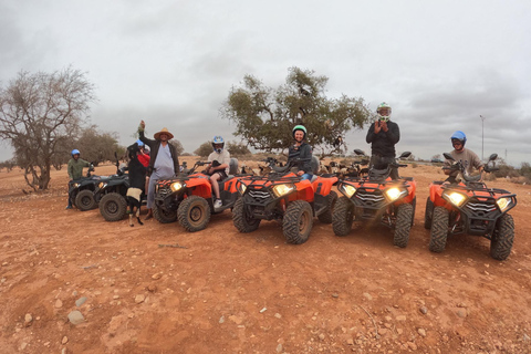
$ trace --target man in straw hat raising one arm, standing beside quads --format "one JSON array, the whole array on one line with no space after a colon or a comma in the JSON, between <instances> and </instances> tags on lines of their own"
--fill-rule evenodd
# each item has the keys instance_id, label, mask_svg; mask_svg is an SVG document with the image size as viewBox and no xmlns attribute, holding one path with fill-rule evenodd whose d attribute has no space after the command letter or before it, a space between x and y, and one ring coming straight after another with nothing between
<instances>
[{"instance_id":1,"label":"man in straw hat raising one arm, standing beside quads","mask_svg":"<svg viewBox=\"0 0 531 354\"><path fill-rule=\"evenodd\" d=\"M171 178L179 173L179 158L177 149L169 140L174 135L164 127L160 132L154 134L155 139L149 139L144 135L146 124L140 121L138 135L140 142L149 146L150 158L148 166L149 185L147 187L147 216L145 220L153 218L153 204L155 202L155 185L159 179Z\"/></svg>"}]
</instances>

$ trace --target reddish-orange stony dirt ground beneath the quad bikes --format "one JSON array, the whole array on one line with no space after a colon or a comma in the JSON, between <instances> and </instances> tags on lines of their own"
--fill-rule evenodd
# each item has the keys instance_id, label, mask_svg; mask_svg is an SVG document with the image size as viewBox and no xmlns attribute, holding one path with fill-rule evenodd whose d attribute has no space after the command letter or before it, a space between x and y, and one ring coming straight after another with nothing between
<instances>
[{"instance_id":1,"label":"reddish-orange stony dirt ground beneath the quad bikes","mask_svg":"<svg viewBox=\"0 0 531 354\"><path fill-rule=\"evenodd\" d=\"M65 210L65 169L31 194L20 170L1 170L0 352L531 353L531 187L489 183L518 195L512 253L497 261L472 236L429 252L424 206L444 175L402 175L418 200L405 249L385 227L340 238L317 219L288 244L274 221L239 233L229 210L195 233L132 228Z\"/></svg>"}]
</instances>

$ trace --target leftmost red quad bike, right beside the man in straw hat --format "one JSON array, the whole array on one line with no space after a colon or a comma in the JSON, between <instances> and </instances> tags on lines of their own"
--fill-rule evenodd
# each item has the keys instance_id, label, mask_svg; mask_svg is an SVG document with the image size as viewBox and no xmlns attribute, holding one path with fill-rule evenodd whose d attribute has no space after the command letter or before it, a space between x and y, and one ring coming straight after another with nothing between
<instances>
[{"instance_id":1,"label":"leftmost red quad bike, right beside the man in straw hat","mask_svg":"<svg viewBox=\"0 0 531 354\"><path fill-rule=\"evenodd\" d=\"M231 159L231 169L236 158ZM238 198L236 178L219 181L219 192L222 207L214 208L212 186L210 176L197 173L199 166L209 163L197 162L187 174L178 177L157 181L155 186L155 205L153 216L158 221L166 223L179 220L188 231L196 232L205 229L210 221L210 215L222 212L232 208ZM236 160L236 166L238 162ZM236 167L237 169L237 167Z\"/></svg>"}]
</instances>

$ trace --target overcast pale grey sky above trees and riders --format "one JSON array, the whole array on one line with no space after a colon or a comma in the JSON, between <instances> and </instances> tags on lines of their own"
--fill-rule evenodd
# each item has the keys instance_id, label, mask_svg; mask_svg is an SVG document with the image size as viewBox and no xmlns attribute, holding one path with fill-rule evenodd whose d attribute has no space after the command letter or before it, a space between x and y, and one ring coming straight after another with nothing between
<instances>
[{"instance_id":1,"label":"overcast pale grey sky above trees and riders","mask_svg":"<svg viewBox=\"0 0 531 354\"><path fill-rule=\"evenodd\" d=\"M91 124L126 146L144 119L192 153L215 135L240 142L219 108L246 74L278 87L298 66L327 76L330 98L387 102L398 152L431 158L459 129L480 158L520 167L530 14L528 0L0 0L0 85L71 66L95 85ZM350 152L369 152L366 129L346 135Z\"/></svg>"}]
</instances>

